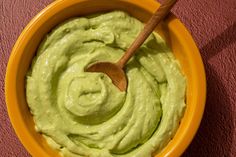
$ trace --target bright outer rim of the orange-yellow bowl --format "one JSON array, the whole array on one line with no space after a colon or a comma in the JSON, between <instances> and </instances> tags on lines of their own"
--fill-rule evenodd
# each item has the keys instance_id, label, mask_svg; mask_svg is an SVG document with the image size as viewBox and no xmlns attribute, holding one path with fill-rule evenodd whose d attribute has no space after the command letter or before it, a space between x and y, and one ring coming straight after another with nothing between
<instances>
[{"instance_id":1,"label":"bright outer rim of the orange-yellow bowl","mask_svg":"<svg viewBox=\"0 0 236 157\"><path fill-rule=\"evenodd\" d=\"M15 130L15 133L17 134L18 138L20 139L21 143L24 145L24 147L27 149L27 151L32 155L32 156L48 156L48 154L41 149L37 142L34 141L30 134L28 133L28 130L21 125L23 124L21 115L19 110L17 110L14 106L18 104L17 102L17 93L14 91L14 78L16 77L16 72L17 72L17 65L20 60L20 55L17 52L23 53L23 48L21 48L21 43L26 42L27 40L30 39L33 33L30 31L36 31L37 28L39 28L39 25L42 25L50 16L53 16L54 13L58 9L63 9L65 6L64 4L67 5L72 5L75 3L81 3L84 1L91 1L91 0L58 0L54 1L53 3L49 4L46 8L44 8L42 11L40 11L30 22L29 24L24 28L22 33L20 34L19 38L17 39L9 61L7 65L7 70L6 70L6 76L5 76L5 98L6 98L6 105L7 105L7 111L8 115L10 117L11 124ZM155 8L159 6L159 3L157 3L154 0L146 0L145 3L142 1L133 1L133 0L117 0L117 1L124 1L127 3L131 3L133 5L137 5L141 8L144 8L147 10L152 10L153 12L155 11ZM181 33L184 34L184 37L182 38L187 42L187 44L191 45L191 49L194 52L195 55L195 63L198 65L198 69L195 73L198 74L198 81L200 82L200 91L198 92L198 97L200 98L198 100L198 108L197 111L195 111L192 114L192 117L190 117L191 124L189 123L188 126L185 127L185 132L183 133L184 138L180 138L180 141L176 143L175 145L172 145L171 149L169 150L164 150L161 151L157 156L180 156L187 146L190 144L192 141L194 135L196 134L203 113L204 113L204 108L205 108L205 101L206 101L206 76L205 76L205 70L203 66L203 62L201 59L200 52L192 39L190 33L187 31L187 29L184 27L184 25L178 20L174 19L174 23L176 26L176 29L181 30ZM16 80L15 80L16 81Z\"/></svg>"}]
</instances>

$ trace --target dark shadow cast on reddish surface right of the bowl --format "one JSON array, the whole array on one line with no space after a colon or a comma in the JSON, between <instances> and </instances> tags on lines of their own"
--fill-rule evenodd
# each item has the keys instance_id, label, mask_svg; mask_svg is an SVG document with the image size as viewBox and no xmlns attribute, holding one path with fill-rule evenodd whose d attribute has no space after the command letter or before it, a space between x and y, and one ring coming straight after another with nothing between
<instances>
[{"instance_id":1,"label":"dark shadow cast on reddish surface right of the bowl","mask_svg":"<svg viewBox=\"0 0 236 157\"><path fill-rule=\"evenodd\" d=\"M235 42L236 21L200 49L207 76L206 107L198 133L183 154L184 157L234 157L236 155L236 148L233 145L236 134L234 130L235 100L232 100L235 83L230 84L235 82L236 78L234 72L236 63L233 57L230 57L230 55L235 55L235 50L229 56L227 54L226 59L229 61L225 64L219 60L211 60L216 55L228 53L224 50ZM220 75L220 69L229 70L227 73L230 75Z\"/></svg>"}]
</instances>

